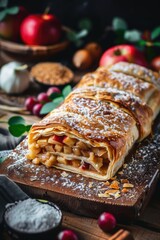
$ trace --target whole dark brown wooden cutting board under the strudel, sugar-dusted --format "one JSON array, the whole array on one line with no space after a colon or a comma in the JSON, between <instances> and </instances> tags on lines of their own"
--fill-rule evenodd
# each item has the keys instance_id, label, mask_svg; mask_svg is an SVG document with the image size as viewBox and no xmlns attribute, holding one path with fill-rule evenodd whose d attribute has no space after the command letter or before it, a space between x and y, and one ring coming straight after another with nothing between
<instances>
[{"instance_id":1,"label":"whole dark brown wooden cutting board under the strudel, sugar-dusted","mask_svg":"<svg viewBox=\"0 0 160 240\"><path fill-rule=\"evenodd\" d=\"M0 165L0 174L18 183L28 195L52 200L65 210L96 218L101 212L109 211L118 221L128 222L141 214L159 177L159 121L155 126L153 135L135 145L126 158L126 164L117 173L119 182L127 179L134 186L123 193L123 184L120 183L118 198L99 196L109 189L106 182L31 164L25 157L27 139Z\"/></svg>"}]
</instances>

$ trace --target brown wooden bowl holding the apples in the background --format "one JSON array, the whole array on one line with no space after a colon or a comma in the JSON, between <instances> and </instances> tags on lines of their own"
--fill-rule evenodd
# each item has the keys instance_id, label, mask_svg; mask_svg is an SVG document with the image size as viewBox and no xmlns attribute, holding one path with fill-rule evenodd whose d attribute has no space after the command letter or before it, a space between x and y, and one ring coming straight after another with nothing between
<instances>
[{"instance_id":1,"label":"brown wooden bowl holding the apples in the background","mask_svg":"<svg viewBox=\"0 0 160 240\"><path fill-rule=\"evenodd\" d=\"M23 43L16 43L0 39L0 49L13 58L25 57L25 60L39 59L41 57L51 57L69 45L69 41L63 40L57 44L49 46L29 46Z\"/></svg>"}]
</instances>

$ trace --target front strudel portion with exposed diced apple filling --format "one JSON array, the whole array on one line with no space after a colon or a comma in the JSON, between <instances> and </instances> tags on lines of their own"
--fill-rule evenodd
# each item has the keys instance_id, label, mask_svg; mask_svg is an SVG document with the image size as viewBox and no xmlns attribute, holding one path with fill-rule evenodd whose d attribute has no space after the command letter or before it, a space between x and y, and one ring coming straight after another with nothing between
<instances>
[{"instance_id":1,"label":"front strudel portion with exposed diced apple filling","mask_svg":"<svg viewBox=\"0 0 160 240\"><path fill-rule=\"evenodd\" d=\"M109 91L74 90L60 107L32 126L28 159L98 180L111 178L139 138L138 106L143 106L129 95L123 98L121 92ZM137 110L128 106L129 101ZM150 119L150 111L146 114Z\"/></svg>"}]
</instances>

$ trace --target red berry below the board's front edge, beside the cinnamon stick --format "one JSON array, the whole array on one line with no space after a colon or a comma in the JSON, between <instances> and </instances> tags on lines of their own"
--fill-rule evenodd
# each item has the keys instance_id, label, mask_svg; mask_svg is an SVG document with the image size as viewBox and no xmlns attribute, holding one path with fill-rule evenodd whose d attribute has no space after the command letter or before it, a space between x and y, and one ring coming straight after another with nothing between
<instances>
[{"instance_id":1,"label":"red berry below the board's front edge, beside the cinnamon stick","mask_svg":"<svg viewBox=\"0 0 160 240\"><path fill-rule=\"evenodd\" d=\"M116 219L111 213L104 212L98 218L98 225L103 231L110 232L116 226Z\"/></svg>"}]
</instances>

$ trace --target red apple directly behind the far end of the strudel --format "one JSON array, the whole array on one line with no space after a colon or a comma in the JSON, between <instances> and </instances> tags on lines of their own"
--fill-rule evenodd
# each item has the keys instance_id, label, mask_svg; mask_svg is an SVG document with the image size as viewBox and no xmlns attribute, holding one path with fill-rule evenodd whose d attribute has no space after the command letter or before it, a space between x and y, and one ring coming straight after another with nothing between
<instances>
[{"instance_id":1,"label":"red apple directly behind the far end of the strudel","mask_svg":"<svg viewBox=\"0 0 160 240\"><path fill-rule=\"evenodd\" d=\"M147 66L147 62L142 52L140 52L136 47L126 44L117 45L106 50L101 56L99 65L110 67L120 61Z\"/></svg>"}]
</instances>

